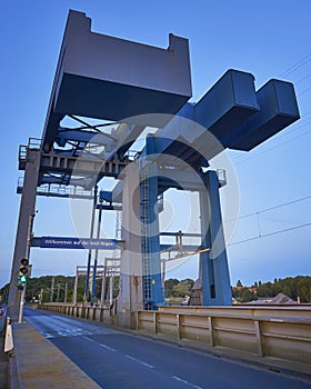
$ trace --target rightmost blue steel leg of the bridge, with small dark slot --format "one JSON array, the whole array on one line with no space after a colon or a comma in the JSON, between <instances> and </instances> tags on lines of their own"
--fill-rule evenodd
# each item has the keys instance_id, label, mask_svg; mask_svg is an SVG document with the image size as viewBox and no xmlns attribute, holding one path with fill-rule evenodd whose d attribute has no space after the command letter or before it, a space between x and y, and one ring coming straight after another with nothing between
<instances>
[{"instance_id":1,"label":"rightmost blue steel leg of the bridge, with small dark slot","mask_svg":"<svg viewBox=\"0 0 311 389\"><path fill-rule=\"evenodd\" d=\"M211 248L211 250L200 255L202 305L231 306L232 292L222 230L217 172L208 171L204 176L204 182L208 196L207 192L200 192L201 230L207 231L202 248Z\"/></svg>"}]
</instances>

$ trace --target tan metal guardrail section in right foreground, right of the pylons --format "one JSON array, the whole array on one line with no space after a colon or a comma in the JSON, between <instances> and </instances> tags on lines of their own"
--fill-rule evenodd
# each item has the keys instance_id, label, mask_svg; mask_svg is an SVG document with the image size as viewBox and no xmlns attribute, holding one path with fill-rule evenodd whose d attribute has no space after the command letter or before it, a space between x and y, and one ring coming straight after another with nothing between
<instances>
[{"instance_id":1,"label":"tan metal guardrail section in right foreground, right of the pylons","mask_svg":"<svg viewBox=\"0 0 311 389\"><path fill-rule=\"evenodd\" d=\"M194 340L200 346L220 346L260 357L310 363L311 319L259 316L258 311L257 315L241 313L234 308L231 315L217 310L209 308L209 313L138 311L137 330Z\"/></svg>"}]
</instances>

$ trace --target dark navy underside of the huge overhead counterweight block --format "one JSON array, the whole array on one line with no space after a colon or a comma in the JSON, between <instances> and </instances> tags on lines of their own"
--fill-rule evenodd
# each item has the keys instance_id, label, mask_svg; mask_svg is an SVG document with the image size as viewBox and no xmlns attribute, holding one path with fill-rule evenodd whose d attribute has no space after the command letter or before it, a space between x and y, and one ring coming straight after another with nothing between
<instances>
[{"instance_id":1,"label":"dark navy underside of the huge overhead counterweight block","mask_svg":"<svg viewBox=\"0 0 311 389\"><path fill-rule=\"evenodd\" d=\"M83 90L87 92L82 93ZM73 96L79 99L72 99ZM119 121L138 114L174 114L190 97L66 73L56 110Z\"/></svg>"}]
</instances>

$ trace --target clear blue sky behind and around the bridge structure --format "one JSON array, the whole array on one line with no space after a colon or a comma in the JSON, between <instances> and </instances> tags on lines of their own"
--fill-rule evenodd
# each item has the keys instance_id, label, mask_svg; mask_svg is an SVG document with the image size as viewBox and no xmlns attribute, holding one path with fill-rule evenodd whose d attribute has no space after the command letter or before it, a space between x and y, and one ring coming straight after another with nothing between
<instances>
[{"instance_id":1,"label":"clear blue sky behind and around the bridge structure","mask_svg":"<svg viewBox=\"0 0 311 389\"><path fill-rule=\"evenodd\" d=\"M281 74L294 82L302 119L251 152L230 157L240 216L259 212L261 235L311 221L310 198L261 212L311 194L309 0L2 0L0 7L0 286L9 280L19 212L18 147L41 136L69 9L86 12L93 31L128 40L167 48L170 32L189 38L194 101L229 68L253 73L257 88ZM225 190L230 193L230 182ZM73 233L64 200L40 198L37 209L37 236ZM257 228L255 215L239 219L231 243L257 237ZM232 283L310 275L309 242L305 227L229 246ZM87 253L37 249L31 261L37 277L73 275L76 265L86 265ZM168 276L195 278L197 267L189 260Z\"/></svg>"}]
</instances>

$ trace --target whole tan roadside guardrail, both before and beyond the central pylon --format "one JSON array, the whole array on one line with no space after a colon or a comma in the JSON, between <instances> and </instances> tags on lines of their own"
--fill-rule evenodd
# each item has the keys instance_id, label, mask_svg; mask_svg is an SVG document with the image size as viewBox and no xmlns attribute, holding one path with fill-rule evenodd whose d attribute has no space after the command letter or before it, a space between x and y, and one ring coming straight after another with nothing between
<instances>
[{"instance_id":1,"label":"whole tan roadside guardrail, both before and beyond the central pylon","mask_svg":"<svg viewBox=\"0 0 311 389\"><path fill-rule=\"evenodd\" d=\"M116 306L44 303L38 308L118 325ZM191 340L208 349L221 347L310 366L310 307L161 307L158 311L133 315L138 332L163 335L177 341Z\"/></svg>"}]
</instances>

